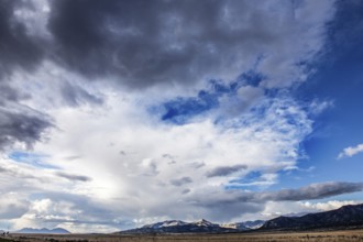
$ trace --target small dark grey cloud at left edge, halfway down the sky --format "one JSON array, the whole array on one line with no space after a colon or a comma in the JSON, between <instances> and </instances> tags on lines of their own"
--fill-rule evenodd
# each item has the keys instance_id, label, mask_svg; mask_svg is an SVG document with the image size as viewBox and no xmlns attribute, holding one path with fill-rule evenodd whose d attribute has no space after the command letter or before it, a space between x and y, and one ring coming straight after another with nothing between
<instances>
[{"instance_id":1,"label":"small dark grey cloud at left edge, halfway down the sky","mask_svg":"<svg viewBox=\"0 0 363 242\"><path fill-rule=\"evenodd\" d=\"M0 150L15 142L31 147L43 139L51 127L53 123L44 113L0 99Z\"/></svg>"}]
</instances>

